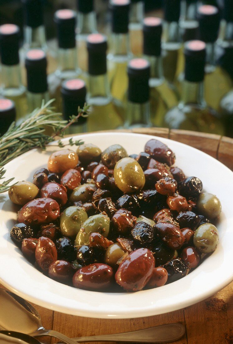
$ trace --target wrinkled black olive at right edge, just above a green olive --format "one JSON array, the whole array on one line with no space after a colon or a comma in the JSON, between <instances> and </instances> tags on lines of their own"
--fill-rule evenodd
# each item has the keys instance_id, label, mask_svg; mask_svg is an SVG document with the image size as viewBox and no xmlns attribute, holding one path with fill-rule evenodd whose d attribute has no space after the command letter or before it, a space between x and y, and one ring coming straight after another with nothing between
<instances>
[{"instance_id":1,"label":"wrinkled black olive at right edge, just above a green olive","mask_svg":"<svg viewBox=\"0 0 233 344\"><path fill-rule=\"evenodd\" d=\"M195 201L202 192L202 182L197 177L188 177L179 184L179 191L188 201Z\"/></svg>"}]
</instances>

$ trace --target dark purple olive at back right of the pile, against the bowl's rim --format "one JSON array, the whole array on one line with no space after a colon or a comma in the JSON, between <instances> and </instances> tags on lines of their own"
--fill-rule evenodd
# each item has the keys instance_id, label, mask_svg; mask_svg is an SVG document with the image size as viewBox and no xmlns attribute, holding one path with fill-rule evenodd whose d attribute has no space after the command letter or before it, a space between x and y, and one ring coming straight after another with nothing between
<instances>
[{"instance_id":1,"label":"dark purple olive at back right of the pile, against the bowl's rim","mask_svg":"<svg viewBox=\"0 0 233 344\"><path fill-rule=\"evenodd\" d=\"M151 155L155 160L171 166L175 162L175 154L166 144L159 140L151 139L145 144L144 151Z\"/></svg>"}]
</instances>

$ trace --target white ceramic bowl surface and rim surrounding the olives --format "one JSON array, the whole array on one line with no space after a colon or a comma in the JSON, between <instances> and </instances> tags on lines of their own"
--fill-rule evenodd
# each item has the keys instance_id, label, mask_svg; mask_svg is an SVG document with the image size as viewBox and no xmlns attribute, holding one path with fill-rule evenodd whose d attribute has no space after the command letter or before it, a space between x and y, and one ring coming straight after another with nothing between
<instances>
[{"instance_id":1,"label":"white ceramic bowl surface and rim surrounding the olives","mask_svg":"<svg viewBox=\"0 0 233 344\"><path fill-rule=\"evenodd\" d=\"M120 143L128 154L140 153L153 136L132 133L79 135L76 139L94 143L102 150ZM217 226L220 242L216 251L188 276L160 288L135 293L103 293L75 289L53 281L36 270L10 239L16 211L8 194L0 195L0 281L29 302L68 314L91 318L135 318L175 311L199 302L233 280L233 173L219 161L185 144L157 138L176 154L175 165L188 176L199 177L204 190L216 194L222 203ZM64 139L63 142L68 142ZM32 181L33 173L47 165L48 151L32 150L6 165L7 178ZM59 148L58 148L59 149ZM74 149L74 147L71 147Z\"/></svg>"}]
</instances>

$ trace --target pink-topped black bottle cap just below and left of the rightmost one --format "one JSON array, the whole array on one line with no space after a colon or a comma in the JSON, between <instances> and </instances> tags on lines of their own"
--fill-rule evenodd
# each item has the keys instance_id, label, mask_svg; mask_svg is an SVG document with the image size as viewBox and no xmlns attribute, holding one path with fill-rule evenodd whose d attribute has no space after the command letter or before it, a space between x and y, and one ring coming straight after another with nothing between
<instances>
[{"instance_id":1,"label":"pink-topped black bottle cap just below and left of the rightmost one","mask_svg":"<svg viewBox=\"0 0 233 344\"><path fill-rule=\"evenodd\" d=\"M185 80L201 82L205 73L205 43L202 41L189 41L184 44Z\"/></svg>"}]
</instances>

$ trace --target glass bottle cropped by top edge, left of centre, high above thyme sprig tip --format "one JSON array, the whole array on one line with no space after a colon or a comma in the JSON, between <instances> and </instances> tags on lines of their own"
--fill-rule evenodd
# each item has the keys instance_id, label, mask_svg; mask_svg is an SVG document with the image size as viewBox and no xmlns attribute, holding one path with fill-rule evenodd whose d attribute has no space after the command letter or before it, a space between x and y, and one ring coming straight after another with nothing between
<instances>
[{"instance_id":1,"label":"glass bottle cropped by top edge, left of centre, high above thyme sprig tip","mask_svg":"<svg viewBox=\"0 0 233 344\"><path fill-rule=\"evenodd\" d=\"M78 61L84 72L88 70L87 36L97 33L97 20L93 0L77 0L78 25L76 39L78 41Z\"/></svg>"}]
</instances>

